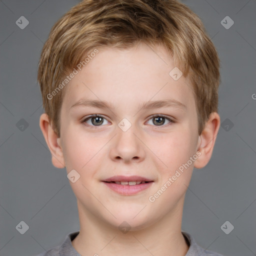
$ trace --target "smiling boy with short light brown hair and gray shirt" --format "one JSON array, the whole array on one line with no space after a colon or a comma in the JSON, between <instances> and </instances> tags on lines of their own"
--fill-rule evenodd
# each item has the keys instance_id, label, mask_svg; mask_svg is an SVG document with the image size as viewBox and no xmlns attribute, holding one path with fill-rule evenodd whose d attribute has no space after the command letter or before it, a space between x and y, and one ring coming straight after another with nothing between
<instances>
[{"instance_id":1,"label":"smiling boy with short light brown hair and gray shirt","mask_svg":"<svg viewBox=\"0 0 256 256\"><path fill-rule=\"evenodd\" d=\"M220 255L181 231L220 124L219 59L186 5L80 2L51 29L38 81L40 128L80 221L39 255Z\"/></svg>"}]
</instances>

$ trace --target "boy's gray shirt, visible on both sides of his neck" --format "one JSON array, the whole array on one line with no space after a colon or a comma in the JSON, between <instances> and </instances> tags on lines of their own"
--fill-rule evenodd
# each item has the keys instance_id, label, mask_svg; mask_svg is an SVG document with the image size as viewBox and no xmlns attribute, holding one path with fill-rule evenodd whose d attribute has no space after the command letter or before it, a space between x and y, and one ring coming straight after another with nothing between
<instances>
[{"instance_id":1,"label":"boy's gray shirt, visible on both sides of his neck","mask_svg":"<svg viewBox=\"0 0 256 256\"><path fill-rule=\"evenodd\" d=\"M74 249L71 243L71 241L75 238L75 236L78 233L79 231L67 234L61 245L55 246L47 251L37 254L36 256L81 256ZM186 252L185 256L223 256L216 252L205 250L199 245L197 245L195 240L189 233L182 231L182 234L189 244L189 249Z\"/></svg>"}]
</instances>

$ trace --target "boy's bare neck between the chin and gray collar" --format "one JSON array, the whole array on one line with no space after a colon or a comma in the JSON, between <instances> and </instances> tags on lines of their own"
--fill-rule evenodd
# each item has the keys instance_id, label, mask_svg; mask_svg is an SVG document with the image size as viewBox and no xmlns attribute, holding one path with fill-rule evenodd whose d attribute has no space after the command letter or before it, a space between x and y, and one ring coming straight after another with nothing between
<instances>
[{"instance_id":1,"label":"boy's bare neck between the chin and gray collar","mask_svg":"<svg viewBox=\"0 0 256 256\"><path fill-rule=\"evenodd\" d=\"M183 201L180 202L183 205ZM182 207L148 227L122 232L95 217L77 201L80 232L72 245L80 255L176 255L185 256L189 246L181 233Z\"/></svg>"}]
</instances>

